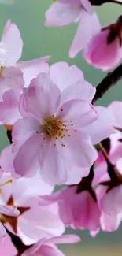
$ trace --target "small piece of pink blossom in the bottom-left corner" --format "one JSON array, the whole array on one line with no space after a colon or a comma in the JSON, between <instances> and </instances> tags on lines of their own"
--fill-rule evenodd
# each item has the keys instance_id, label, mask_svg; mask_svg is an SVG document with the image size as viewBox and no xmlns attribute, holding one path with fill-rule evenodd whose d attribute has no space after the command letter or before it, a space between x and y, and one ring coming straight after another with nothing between
<instances>
[{"instance_id":1,"label":"small piece of pink blossom in the bottom-left corner","mask_svg":"<svg viewBox=\"0 0 122 256\"><path fill-rule=\"evenodd\" d=\"M17 255L17 249L13 246L13 243L8 235L6 235L0 240L0 255L1 256Z\"/></svg>"}]
</instances>

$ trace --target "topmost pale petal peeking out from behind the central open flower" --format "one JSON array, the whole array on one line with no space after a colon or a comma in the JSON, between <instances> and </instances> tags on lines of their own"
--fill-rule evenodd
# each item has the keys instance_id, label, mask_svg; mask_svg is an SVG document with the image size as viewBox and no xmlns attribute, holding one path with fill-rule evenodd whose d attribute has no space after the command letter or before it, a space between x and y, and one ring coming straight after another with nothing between
<instances>
[{"instance_id":1,"label":"topmost pale petal peeking out from behind the central open flower","mask_svg":"<svg viewBox=\"0 0 122 256\"><path fill-rule=\"evenodd\" d=\"M51 65L50 78L61 91L79 80L84 80L83 72L76 65L69 66L66 62L57 62Z\"/></svg>"}]
</instances>

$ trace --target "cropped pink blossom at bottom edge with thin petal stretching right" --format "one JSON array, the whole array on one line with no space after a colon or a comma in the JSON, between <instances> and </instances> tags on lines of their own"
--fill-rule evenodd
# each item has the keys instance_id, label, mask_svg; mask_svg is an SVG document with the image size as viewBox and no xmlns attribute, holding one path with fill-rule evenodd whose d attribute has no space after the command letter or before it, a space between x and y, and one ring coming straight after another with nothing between
<instances>
[{"instance_id":1,"label":"cropped pink blossom at bottom edge with thin petal stretching right","mask_svg":"<svg viewBox=\"0 0 122 256\"><path fill-rule=\"evenodd\" d=\"M31 248L26 250L22 256L64 256L55 244L61 243L78 243L81 239L76 235L57 236L51 239L41 239Z\"/></svg>"}]
</instances>

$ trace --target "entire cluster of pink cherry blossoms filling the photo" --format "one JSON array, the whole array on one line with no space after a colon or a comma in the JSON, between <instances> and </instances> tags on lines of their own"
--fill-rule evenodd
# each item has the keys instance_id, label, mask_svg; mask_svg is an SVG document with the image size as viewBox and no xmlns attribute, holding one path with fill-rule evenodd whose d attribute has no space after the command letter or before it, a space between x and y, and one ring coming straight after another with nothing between
<instances>
[{"instance_id":1,"label":"entire cluster of pink cherry blossoms filling the photo","mask_svg":"<svg viewBox=\"0 0 122 256\"><path fill-rule=\"evenodd\" d=\"M45 24L79 23L69 56L83 50L91 65L107 70L122 56L122 17L102 28L94 5L54 1ZM122 102L94 106L97 88L76 65L49 65L50 56L19 62L22 50L19 28L7 20L0 41L0 125L9 139L0 155L0 255L63 256L56 244L81 240L67 227L94 237L122 221Z\"/></svg>"}]
</instances>

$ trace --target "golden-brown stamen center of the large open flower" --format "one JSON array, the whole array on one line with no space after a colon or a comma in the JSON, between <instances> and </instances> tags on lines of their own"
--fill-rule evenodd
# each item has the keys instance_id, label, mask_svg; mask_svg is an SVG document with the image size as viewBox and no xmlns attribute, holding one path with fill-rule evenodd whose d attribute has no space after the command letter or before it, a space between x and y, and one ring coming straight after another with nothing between
<instances>
[{"instance_id":1,"label":"golden-brown stamen center of the large open flower","mask_svg":"<svg viewBox=\"0 0 122 256\"><path fill-rule=\"evenodd\" d=\"M42 132L46 135L47 138L52 139L57 136L64 136L63 128L65 124L58 117L49 117L45 120L45 123L42 125Z\"/></svg>"}]
</instances>

